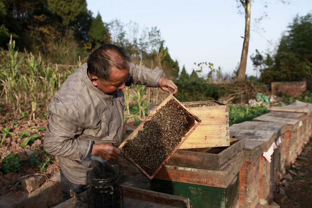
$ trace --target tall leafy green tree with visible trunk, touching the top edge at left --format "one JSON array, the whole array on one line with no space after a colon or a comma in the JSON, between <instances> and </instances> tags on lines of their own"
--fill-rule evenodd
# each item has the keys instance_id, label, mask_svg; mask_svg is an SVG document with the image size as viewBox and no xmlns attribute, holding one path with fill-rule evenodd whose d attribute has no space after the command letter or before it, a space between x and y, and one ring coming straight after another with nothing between
<instances>
[{"instance_id":1,"label":"tall leafy green tree with visible trunk, touching the top edge at left","mask_svg":"<svg viewBox=\"0 0 312 208\"><path fill-rule=\"evenodd\" d=\"M87 11L85 0L47 0L48 9L62 18L62 25L66 27L66 35L72 21Z\"/></svg>"}]
</instances>

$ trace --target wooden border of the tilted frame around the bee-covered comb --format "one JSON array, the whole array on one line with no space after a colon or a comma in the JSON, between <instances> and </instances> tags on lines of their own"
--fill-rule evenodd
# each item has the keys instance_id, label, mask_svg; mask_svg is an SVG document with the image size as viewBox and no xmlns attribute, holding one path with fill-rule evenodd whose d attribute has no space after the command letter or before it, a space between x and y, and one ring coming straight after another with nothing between
<instances>
[{"instance_id":1,"label":"wooden border of the tilted frame around the bee-covered comb","mask_svg":"<svg viewBox=\"0 0 312 208\"><path fill-rule=\"evenodd\" d=\"M149 116L124 140L124 142L122 144L120 144L120 146L118 147L120 149L120 151L131 161L134 163L134 165L136 165L139 170L141 170L149 179L152 179L156 173L159 171L159 169L163 166L163 164L165 164L165 162L167 162L167 160L170 158L169 155L159 166L158 168L154 171L154 173L152 175L150 175L149 173L145 172L145 170L136 163L135 160L133 160L131 157L127 156L127 154L125 154L125 152L123 151L122 147L124 146L125 143L127 143L128 140L133 139L136 134L138 134L138 132L140 130L143 129L144 124L149 121L150 119L153 118L153 115L157 112L158 109L160 109L162 106L166 105L168 102L171 102L171 100L175 101L176 103L179 104L179 107L182 107L183 109L185 109L186 112L188 112L188 120L192 120L194 121L194 123L192 124L192 126L190 127L190 129L188 130L188 133L181 138L181 142L178 144L178 146L176 146L172 152L172 154L177 151L177 149L181 146L181 144L191 135L191 133L198 127L198 125L201 123L201 120L198 119L198 117L196 115L194 115L190 110L188 110L184 105L182 105L174 96L173 94L170 94L160 105L158 105L158 107L154 110L154 112L152 112L151 114L149 114Z\"/></svg>"}]
</instances>

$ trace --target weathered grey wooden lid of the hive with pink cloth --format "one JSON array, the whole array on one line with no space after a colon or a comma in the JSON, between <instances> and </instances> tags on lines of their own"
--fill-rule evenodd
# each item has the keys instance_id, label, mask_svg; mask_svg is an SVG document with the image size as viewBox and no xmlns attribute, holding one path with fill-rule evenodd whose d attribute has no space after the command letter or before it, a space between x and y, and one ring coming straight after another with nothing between
<instances>
[{"instance_id":1,"label":"weathered grey wooden lid of the hive with pink cloth","mask_svg":"<svg viewBox=\"0 0 312 208\"><path fill-rule=\"evenodd\" d=\"M280 135L287 130L287 124L279 122L245 121L233 124L230 129L274 131L277 133L276 139L278 139ZM231 133L231 135L233 134Z\"/></svg>"}]
</instances>

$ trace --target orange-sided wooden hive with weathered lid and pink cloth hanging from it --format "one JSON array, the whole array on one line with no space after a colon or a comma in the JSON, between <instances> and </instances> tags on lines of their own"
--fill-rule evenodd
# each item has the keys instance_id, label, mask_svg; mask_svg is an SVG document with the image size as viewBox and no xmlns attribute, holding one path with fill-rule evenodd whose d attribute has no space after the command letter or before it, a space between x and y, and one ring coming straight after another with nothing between
<instances>
[{"instance_id":1,"label":"orange-sided wooden hive with weathered lid and pink cloth hanging from it","mask_svg":"<svg viewBox=\"0 0 312 208\"><path fill-rule=\"evenodd\" d=\"M285 132L285 127L284 123L247 121L232 125L230 134L245 139L245 141L261 142L263 143L263 151L267 152L277 138L281 136L281 132ZM260 156L259 160L258 201L261 206L266 207L269 200L273 198L279 181L280 159L278 149L275 149L273 155L271 155L271 162L267 161L263 155Z\"/></svg>"}]
</instances>

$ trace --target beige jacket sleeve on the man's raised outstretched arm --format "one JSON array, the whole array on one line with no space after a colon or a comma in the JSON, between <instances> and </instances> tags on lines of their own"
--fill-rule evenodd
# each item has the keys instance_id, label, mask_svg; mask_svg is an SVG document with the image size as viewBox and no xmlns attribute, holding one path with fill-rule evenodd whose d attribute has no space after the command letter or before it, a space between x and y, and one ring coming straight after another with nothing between
<instances>
[{"instance_id":1,"label":"beige jacket sleeve on the man's raised outstretched arm","mask_svg":"<svg viewBox=\"0 0 312 208\"><path fill-rule=\"evenodd\" d=\"M144 66L130 64L129 75L126 80L126 86L146 85L148 87L158 87L159 77L163 74L163 70L156 67L154 70Z\"/></svg>"}]
</instances>

